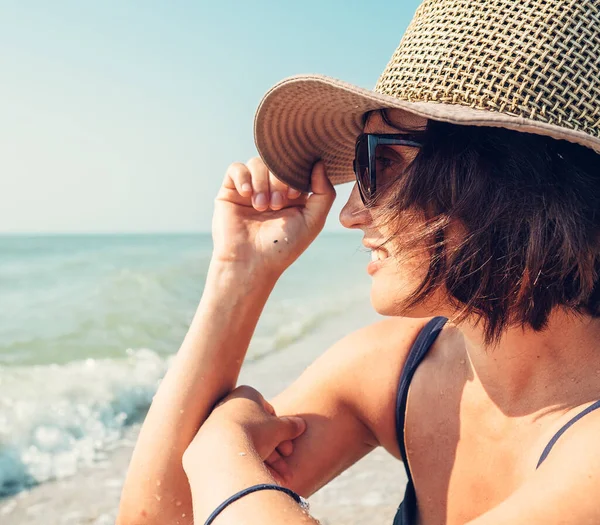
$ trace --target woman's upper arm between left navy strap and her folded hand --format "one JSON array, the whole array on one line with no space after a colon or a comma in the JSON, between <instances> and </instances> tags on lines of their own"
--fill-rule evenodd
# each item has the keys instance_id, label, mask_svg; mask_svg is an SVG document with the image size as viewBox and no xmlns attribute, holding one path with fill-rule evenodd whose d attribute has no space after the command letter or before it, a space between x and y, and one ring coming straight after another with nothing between
<instances>
[{"instance_id":1,"label":"woman's upper arm between left navy strap and her folded hand","mask_svg":"<svg viewBox=\"0 0 600 525\"><path fill-rule=\"evenodd\" d=\"M290 488L308 497L376 446L395 453L398 379L423 324L390 318L358 330L270 400L278 415L297 414L307 422L287 460Z\"/></svg>"}]
</instances>

